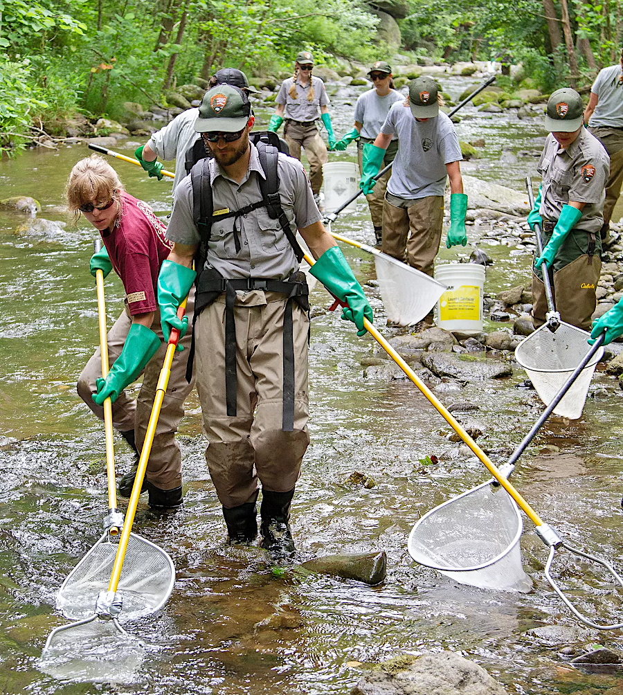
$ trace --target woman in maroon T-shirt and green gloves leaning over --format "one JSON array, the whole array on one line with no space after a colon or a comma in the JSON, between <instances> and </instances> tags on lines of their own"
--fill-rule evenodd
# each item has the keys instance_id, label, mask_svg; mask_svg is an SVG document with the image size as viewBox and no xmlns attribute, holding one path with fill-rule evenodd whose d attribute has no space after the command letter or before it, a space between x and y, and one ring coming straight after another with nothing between
<instances>
[{"instance_id":1,"label":"woman in maroon T-shirt and green gloves leaning over","mask_svg":"<svg viewBox=\"0 0 623 695\"><path fill-rule=\"evenodd\" d=\"M126 193L117 172L97 154L77 163L65 190L67 207L82 213L99 231L104 241L101 252L90 261L90 272L104 277L111 270L121 278L126 292L125 307L108 332L110 371L102 378L102 354L86 363L78 379L78 393L88 407L104 419L104 400L113 403L113 427L138 453L156 395L156 384L163 365L166 345L156 301L156 281L162 261L170 254L166 227L142 200ZM184 325L193 315L194 291L188 297ZM167 336L168 338L168 336ZM180 352L173 360L156 436L147 464L143 491L149 491L149 505L161 509L181 505L181 453L175 440L177 425L184 416L184 400L193 388L186 381L191 334L180 341ZM143 374L138 398L129 398L124 389ZM137 464L119 483L119 492L129 497Z\"/></svg>"}]
</instances>

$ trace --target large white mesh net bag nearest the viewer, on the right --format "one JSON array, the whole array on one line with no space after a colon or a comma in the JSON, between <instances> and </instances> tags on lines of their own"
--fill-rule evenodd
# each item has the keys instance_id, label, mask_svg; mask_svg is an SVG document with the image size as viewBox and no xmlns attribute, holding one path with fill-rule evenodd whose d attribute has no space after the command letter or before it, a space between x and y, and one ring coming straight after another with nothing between
<instances>
[{"instance_id":1,"label":"large white mesh net bag nearest the viewer, on the right","mask_svg":"<svg viewBox=\"0 0 623 695\"><path fill-rule=\"evenodd\" d=\"M510 495L486 482L425 514L411 531L409 554L462 584L527 591L522 530Z\"/></svg>"}]
</instances>

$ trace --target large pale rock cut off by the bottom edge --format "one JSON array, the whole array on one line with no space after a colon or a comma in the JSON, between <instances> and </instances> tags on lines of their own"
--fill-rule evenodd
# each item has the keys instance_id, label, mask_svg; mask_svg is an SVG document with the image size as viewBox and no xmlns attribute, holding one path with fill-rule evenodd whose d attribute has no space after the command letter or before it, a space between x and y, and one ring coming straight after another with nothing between
<instances>
[{"instance_id":1,"label":"large pale rock cut off by the bottom edge","mask_svg":"<svg viewBox=\"0 0 623 695\"><path fill-rule=\"evenodd\" d=\"M483 667L444 651L401 655L380 664L350 695L508 695Z\"/></svg>"}]
</instances>

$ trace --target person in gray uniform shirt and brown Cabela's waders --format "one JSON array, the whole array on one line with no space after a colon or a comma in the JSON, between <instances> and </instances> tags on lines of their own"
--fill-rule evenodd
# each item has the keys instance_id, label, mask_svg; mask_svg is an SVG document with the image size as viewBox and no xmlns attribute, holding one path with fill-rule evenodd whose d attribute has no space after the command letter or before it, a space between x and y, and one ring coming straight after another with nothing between
<instances>
[{"instance_id":1,"label":"person in gray uniform shirt and brown Cabela's waders","mask_svg":"<svg viewBox=\"0 0 623 695\"><path fill-rule=\"evenodd\" d=\"M541 272L545 261L560 318L588 331L601 272L599 230L604 224L608 153L583 128L582 98L575 90L559 89L549 97L545 128L550 134L537 165L542 183L528 215L532 229L540 224L544 246L533 268L533 323L542 326L547 313Z\"/></svg>"}]
</instances>

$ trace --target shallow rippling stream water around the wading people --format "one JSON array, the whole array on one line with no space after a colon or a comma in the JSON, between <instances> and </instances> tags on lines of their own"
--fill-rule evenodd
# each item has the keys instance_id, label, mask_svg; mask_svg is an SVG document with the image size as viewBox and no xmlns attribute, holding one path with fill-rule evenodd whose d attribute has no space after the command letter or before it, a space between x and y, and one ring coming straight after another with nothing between
<instances>
[{"instance_id":1,"label":"shallow rippling stream water around the wading people","mask_svg":"<svg viewBox=\"0 0 623 695\"><path fill-rule=\"evenodd\" d=\"M441 80L455 96L468 82ZM355 103L334 99L334 129L352 125ZM259 110L266 122L268 111ZM514 114L485 115L464 109L462 140L485 138L483 159L464 170L523 190L535 176L536 158L501 164L505 145L517 152L540 149L542 122ZM135 138L131 138L135 140ZM134 147L120 152L131 155ZM40 217L63 220L54 208L72 165L88 150L26 152L0 162L0 197L31 195ZM334 158L334 156L332 156ZM355 159L351 146L339 158ZM170 209L170 183L112 161L132 195L156 213ZM24 234L24 218L0 213L0 689L6 693L63 695L327 694L350 692L367 664L398 653L449 649L480 663L509 693L550 695L623 692L615 674L581 673L560 648L576 653L593 643L623 648L620 632L597 634L578 626L544 580L547 550L524 518L524 566L533 579L528 594L462 586L414 564L407 536L414 522L450 496L487 480L483 466L406 380L366 379L361 361L382 357L371 338L357 338L337 313L312 321L309 430L312 437L293 504L293 532L302 557L384 549L389 569L379 587L286 572L275 577L259 550L224 544L220 505L203 459L196 394L187 404L179 439L184 456L185 503L159 516L141 502L135 530L170 553L175 590L161 614L127 626L146 644L143 667L124 685L62 682L41 673L37 660L49 631L67 621L54 596L72 567L99 538L106 514L104 431L76 394L75 383L98 341L95 286L88 272L95 230L83 220L58 234ZM341 215L333 229L372 243L366 206ZM530 256L468 227L469 244L442 250L442 259L467 258L478 244L494 260L485 291L496 293L528 281ZM490 229L490 227L487 227ZM385 314L373 285L370 256L343 249L387 337ZM122 308L120 281L106 280L109 324ZM330 304L322 289L315 306ZM499 324L487 324L494 330ZM515 363L509 379L433 384L445 404L468 402L458 412L482 423L478 443L503 463L542 411ZM623 564L620 499L623 493L621 418L623 392L598 372L583 418L553 420L519 460L512 482L543 516L574 543ZM467 418L469 416L469 418ZM131 462L116 442L122 471ZM439 464L421 462L437 456ZM365 489L348 482L353 471L375 481ZM615 619L616 604L579 562L564 562L585 610ZM618 612L619 619L623 610ZM548 633L536 628L553 626Z\"/></svg>"}]
</instances>

